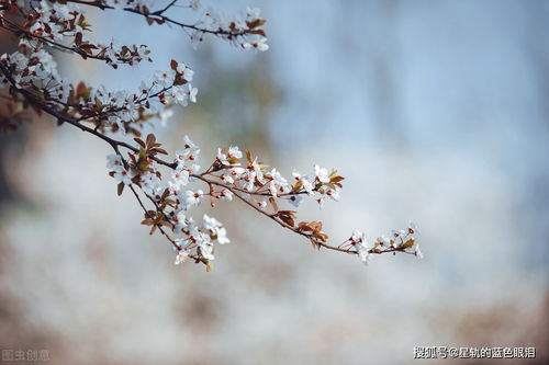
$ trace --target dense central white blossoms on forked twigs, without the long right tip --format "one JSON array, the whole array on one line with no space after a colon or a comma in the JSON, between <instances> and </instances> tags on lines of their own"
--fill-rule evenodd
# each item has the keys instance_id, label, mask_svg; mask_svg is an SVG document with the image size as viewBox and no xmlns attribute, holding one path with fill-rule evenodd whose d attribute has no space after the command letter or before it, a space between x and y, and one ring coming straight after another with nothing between
<instances>
[{"instance_id":1,"label":"dense central white blossoms on forked twigs, without the long right tip","mask_svg":"<svg viewBox=\"0 0 549 365\"><path fill-rule=\"evenodd\" d=\"M149 157L158 151L159 144L152 135L146 141L136 140L142 148L131 155L128 161L119 155L111 155L108 156L107 168L117 182L139 186L154 202L157 207L155 218L147 212L144 224L168 227L177 236L176 263L189 256L210 263L214 259L214 242L229 242L226 229L215 218L205 215L203 225L197 225L191 209L204 198L209 198L213 207L214 201L233 201L236 195L260 212L265 212L267 202L270 202L272 215L280 216L279 221L284 221L291 210L280 210L276 199L298 207L303 196L310 196L320 204L325 196L333 199L339 197L343 178L335 171L328 173L327 169L314 166L312 178L294 171L293 180L289 181L277 169L268 168L257 157L253 157L249 151L244 153L237 146L220 147L210 168L200 172L200 148L188 136L183 137L182 148L175 152L173 162L169 164L170 178L163 180L159 164ZM210 190L189 189L188 185L194 181L206 183ZM288 227L293 227L288 219L285 221Z\"/></svg>"}]
</instances>

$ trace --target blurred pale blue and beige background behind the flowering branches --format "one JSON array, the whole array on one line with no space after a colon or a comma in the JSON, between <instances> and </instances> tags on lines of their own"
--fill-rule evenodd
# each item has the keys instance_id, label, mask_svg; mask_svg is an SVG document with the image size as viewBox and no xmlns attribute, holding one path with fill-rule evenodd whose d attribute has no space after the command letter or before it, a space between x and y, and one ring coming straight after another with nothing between
<instances>
[{"instance_id":1,"label":"blurred pale blue and beige background behind the flowering branches","mask_svg":"<svg viewBox=\"0 0 549 365\"><path fill-rule=\"evenodd\" d=\"M203 164L236 144L285 175L337 168L341 202L300 218L335 240L414 220L425 259L363 267L234 202L200 210L232 239L214 270L176 266L116 196L110 147L40 118L0 137L1 347L54 364L407 364L435 345L536 346L528 364L549 362L549 3L208 4L261 8L270 49L193 49L179 30L90 9L97 39L147 44L155 61L58 55L61 72L134 89L186 61L199 100L156 130L169 150L188 134Z\"/></svg>"}]
</instances>

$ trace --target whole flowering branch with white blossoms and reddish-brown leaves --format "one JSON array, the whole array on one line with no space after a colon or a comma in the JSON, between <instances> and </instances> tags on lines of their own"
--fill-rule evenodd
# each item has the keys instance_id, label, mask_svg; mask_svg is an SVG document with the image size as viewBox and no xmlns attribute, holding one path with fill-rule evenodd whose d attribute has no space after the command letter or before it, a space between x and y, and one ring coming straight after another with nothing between
<instances>
[{"instance_id":1,"label":"whole flowering branch with white blossoms and reddish-brown leaves","mask_svg":"<svg viewBox=\"0 0 549 365\"><path fill-rule=\"evenodd\" d=\"M5 102L9 113L0 113L0 128L13 128L10 121L20 118L20 113L31 106L38 114L55 117L58 124L67 123L108 142L115 153L108 156L107 167L109 175L119 182L119 195L125 186L130 187L144 210L142 225L150 226L150 235L159 230L166 237L177 251L176 264L192 259L211 269L214 242L229 242L226 229L208 215L203 216L203 223L199 225L189 212L204 198L210 199L214 207L214 201L232 201L234 196L279 226L306 238L314 249L325 248L358 255L363 263L383 253L422 255L415 239L418 230L413 224L406 230L393 230L390 237L379 237L372 243L367 241L362 232L354 231L348 239L334 246L328 242L321 221L298 223L296 210L279 208L279 203L299 207L306 197L314 199L321 207L327 198L338 201L344 178L336 170L328 171L315 164L311 176L294 171L293 179L288 181L277 169L258 161L251 152L246 151L244 158L238 147L231 146L219 148L210 167L200 172L197 162L200 148L187 136L183 137L183 148L175 152L172 161L160 158L160 155L168 152L153 134L141 139L141 130L145 123L157 119L164 122L169 116L168 107L171 105L187 106L189 101L197 101L198 90L189 83L193 71L184 64L171 60L169 70L155 73L148 84L142 82L137 93L109 91L104 87L92 89L83 82L75 85L65 81L58 75L56 62L46 46L71 52L83 58L101 59L114 68L116 64L113 60L133 64L148 54L144 45L131 48L114 46L114 42L108 46L89 43L83 38L83 32L90 30L90 24L78 7L67 5L67 2L101 10L122 5L124 11L145 16L149 25L155 22L171 23L183 30L193 30L191 41L193 37L194 41L201 41L202 34L210 33L237 42L243 48L258 50L268 49L266 39L261 38L265 37L261 30L265 20L259 18L258 11L248 9L244 19L232 22L224 22L209 11L198 23L183 24L165 15L177 0L169 1L157 11L148 9L147 0L69 0L63 3L0 0L0 27L20 37L18 52L0 56L0 87L8 87L9 92ZM189 7L195 10L198 1L191 0ZM4 16L4 11L7 14L21 14L25 21L21 24L12 22ZM259 38L248 43L248 36ZM67 37L70 43L61 43ZM99 50L93 53L92 49ZM92 126L88 126L89 123ZM108 132L133 134L136 145L115 139L107 135ZM121 149L124 149L126 157ZM171 178L164 176L164 168L167 168ZM206 184L209 191L183 190L192 181ZM147 209L137 189L150 201L153 209Z\"/></svg>"}]
</instances>

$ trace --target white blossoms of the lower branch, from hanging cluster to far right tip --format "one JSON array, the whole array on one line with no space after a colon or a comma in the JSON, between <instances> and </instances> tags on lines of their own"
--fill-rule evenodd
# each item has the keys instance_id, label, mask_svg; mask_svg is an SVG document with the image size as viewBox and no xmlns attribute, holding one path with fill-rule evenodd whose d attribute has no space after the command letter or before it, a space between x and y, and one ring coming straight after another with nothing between
<instances>
[{"instance_id":1,"label":"white blossoms of the lower branch, from hanging cluster to far right tip","mask_svg":"<svg viewBox=\"0 0 549 365\"><path fill-rule=\"evenodd\" d=\"M147 144L142 142L142 147L154 150L157 145L154 138L150 140L149 138L152 137L147 137ZM388 237L378 237L373 242L369 242L363 232L355 230L351 237L338 247L329 247L326 243L327 235L322 232L322 223L302 221L295 225L295 212L279 209L277 201L285 201L298 207L304 196L312 197L321 206L326 196L338 201L340 182L344 178L339 176L335 170L328 172L327 169L315 164L311 178L294 171L293 180L289 181L277 169L268 168L259 162L258 158L253 157L249 151L243 153L237 146L231 146L220 147L210 168L199 172L199 155L200 148L188 136L184 136L183 148L175 153L175 162L170 166L171 179L167 180L166 184L159 179L161 174L155 160L147 159L147 166L143 169L139 168L142 160L132 158L133 162L128 169L124 167L124 161L120 156L108 157L108 168L116 181L141 186L156 206L163 207L160 212L157 212L160 220L156 224L171 228L175 235L183 236L176 241L176 263L178 264L189 256L209 264L214 259L214 242L220 244L229 242L226 229L221 223L204 215L203 225L199 226L190 210L200 205L204 198L209 198L213 207L215 206L214 199L232 201L234 196L265 212L283 227L307 237L314 247L355 253L365 264L368 264L376 254L390 252L423 258L416 241L416 235L421 232L413 223L406 230L392 230ZM150 184L155 186L154 189L147 185L150 180L154 180L154 184ZM210 190L204 192L200 189L188 189L187 186L193 181L206 183ZM271 204L272 213L266 212L268 203ZM146 221L148 225L152 224L152 220Z\"/></svg>"}]
</instances>

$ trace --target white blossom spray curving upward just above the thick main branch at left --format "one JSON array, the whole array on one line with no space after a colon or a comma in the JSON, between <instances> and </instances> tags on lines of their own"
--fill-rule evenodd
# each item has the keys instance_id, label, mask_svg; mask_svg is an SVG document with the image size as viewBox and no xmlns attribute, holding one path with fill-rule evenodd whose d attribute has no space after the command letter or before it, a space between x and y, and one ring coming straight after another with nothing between
<instances>
[{"instance_id":1,"label":"white blossom spray curving upward just above the thick main branch at left","mask_svg":"<svg viewBox=\"0 0 549 365\"><path fill-rule=\"evenodd\" d=\"M192 87L193 71L184 64L172 61L175 70L157 72L152 82L142 82L137 92L111 91L104 85L87 88L72 85L61 79L53 56L38 45L21 41L20 50L0 56L0 62L11 70L18 89L41 90L36 96L46 104L69 105L75 114L88 116L101 129L111 132L142 130L159 119L165 124L171 116L166 106L197 102L198 89ZM2 75L0 83L8 79ZM115 129L112 129L115 128Z\"/></svg>"}]
</instances>

